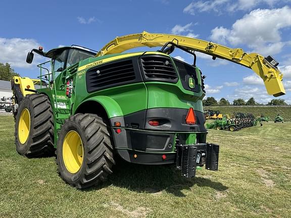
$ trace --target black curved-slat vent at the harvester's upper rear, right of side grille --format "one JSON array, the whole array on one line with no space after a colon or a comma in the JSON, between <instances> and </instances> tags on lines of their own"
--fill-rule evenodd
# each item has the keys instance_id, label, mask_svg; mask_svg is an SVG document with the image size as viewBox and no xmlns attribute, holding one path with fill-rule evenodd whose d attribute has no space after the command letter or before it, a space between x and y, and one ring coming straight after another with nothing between
<instances>
[{"instance_id":1,"label":"black curved-slat vent at the harvester's upper rear, right of side grille","mask_svg":"<svg viewBox=\"0 0 291 218\"><path fill-rule=\"evenodd\" d=\"M141 66L147 80L177 81L178 76L172 61L166 57L143 57Z\"/></svg>"}]
</instances>

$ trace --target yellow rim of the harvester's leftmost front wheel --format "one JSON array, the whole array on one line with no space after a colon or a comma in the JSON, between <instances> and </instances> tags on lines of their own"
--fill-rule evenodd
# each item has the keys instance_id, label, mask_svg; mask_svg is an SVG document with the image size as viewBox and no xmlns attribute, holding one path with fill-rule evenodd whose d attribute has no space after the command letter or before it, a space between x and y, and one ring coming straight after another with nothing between
<instances>
[{"instance_id":1,"label":"yellow rim of the harvester's leftmost front wheel","mask_svg":"<svg viewBox=\"0 0 291 218\"><path fill-rule=\"evenodd\" d=\"M30 114L27 108L25 108L20 115L18 123L18 138L21 144L24 144L29 136L30 130Z\"/></svg>"}]
</instances>

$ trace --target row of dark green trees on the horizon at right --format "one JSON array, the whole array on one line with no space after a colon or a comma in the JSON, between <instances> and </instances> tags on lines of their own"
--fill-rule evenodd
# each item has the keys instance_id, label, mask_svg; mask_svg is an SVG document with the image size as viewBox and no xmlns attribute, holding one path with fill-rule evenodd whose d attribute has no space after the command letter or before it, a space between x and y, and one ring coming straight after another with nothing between
<instances>
[{"instance_id":1,"label":"row of dark green trees on the horizon at right","mask_svg":"<svg viewBox=\"0 0 291 218\"><path fill-rule=\"evenodd\" d=\"M256 102L254 97L251 97L249 100L245 101L243 98L237 98L230 103L225 98L221 98L217 101L214 97L207 97L203 101L203 106L242 106L242 105L288 105L284 99L272 99L267 104L261 104Z\"/></svg>"}]
</instances>

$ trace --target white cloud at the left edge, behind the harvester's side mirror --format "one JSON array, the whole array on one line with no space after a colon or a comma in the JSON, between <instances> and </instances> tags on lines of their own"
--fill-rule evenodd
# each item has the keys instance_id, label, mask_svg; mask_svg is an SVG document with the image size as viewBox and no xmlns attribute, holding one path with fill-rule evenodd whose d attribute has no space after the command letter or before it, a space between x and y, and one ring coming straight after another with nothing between
<instances>
[{"instance_id":1,"label":"white cloud at the left edge, behind the harvester's side mirror","mask_svg":"<svg viewBox=\"0 0 291 218\"><path fill-rule=\"evenodd\" d=\"M32 48L38 48L40 44L34 39L0 38L0 62L9 63L12 68L30 68L33 65L26 63L26 56ZM41 60L38 55L34 61Z\"/></svg>"}]
</instances>

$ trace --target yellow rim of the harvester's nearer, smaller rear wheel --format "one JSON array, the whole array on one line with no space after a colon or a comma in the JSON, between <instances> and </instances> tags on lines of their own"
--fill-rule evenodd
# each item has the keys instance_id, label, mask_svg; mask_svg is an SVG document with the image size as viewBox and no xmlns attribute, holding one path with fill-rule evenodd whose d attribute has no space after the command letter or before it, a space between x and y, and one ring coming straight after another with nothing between
<instances>
[{"instance_id":1,"label":"yellow rim of the harvester's nearer, smaller rear wheel","mask_svg":"<svg viewBox=\"0 0 291 218\"><path fill-rule=\"evenodd\" d=\"M67 133L63 142L63 159L67 170L75 174L77 173L83 162L83 143L80 135L71 130Z\"/></svg>"}]
</instances>

